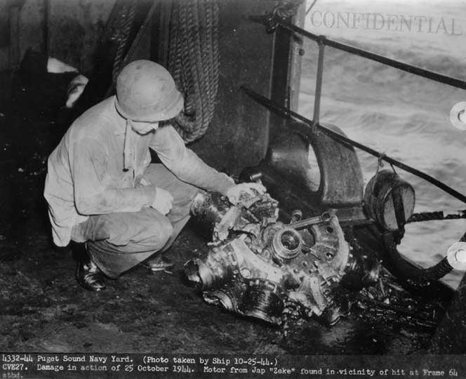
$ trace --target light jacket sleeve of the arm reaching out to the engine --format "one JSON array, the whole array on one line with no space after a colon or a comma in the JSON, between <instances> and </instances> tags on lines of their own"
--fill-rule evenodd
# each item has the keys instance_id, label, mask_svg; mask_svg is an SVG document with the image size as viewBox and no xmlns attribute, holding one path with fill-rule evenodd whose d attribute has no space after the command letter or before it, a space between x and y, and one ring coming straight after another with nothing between
<instances>
[{"instance_id":1,"label":"light jacket sleeve of the arm reaching out to the engine","mask_svg":"<svg viewBox=\"0 0 466 379\"><path fill-rule=\"evenodd\" d=\"M157 129L150 145L159 154L161 162L180 180L212 192L226 194L234 180L208 166L191 149L171 125Z\"/></svg>"}]
</instances>

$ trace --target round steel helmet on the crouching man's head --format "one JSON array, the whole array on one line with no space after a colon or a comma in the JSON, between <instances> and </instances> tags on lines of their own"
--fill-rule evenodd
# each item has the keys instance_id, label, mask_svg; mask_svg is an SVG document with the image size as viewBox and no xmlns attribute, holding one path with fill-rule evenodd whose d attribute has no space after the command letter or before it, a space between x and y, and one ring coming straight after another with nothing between
<instances>
[{"instance_id":1,"label":"round steel helmet on the crouching man's head","mask_svg":"<svg viewBox=\"0 0 466 379\"><path fill-rule=\"evenodd\" d=\"M135 60L116 79L116 109L126 119L157 122L175 117L183 98L171 74L150 60Z\"/></svg>"}]
</instances>

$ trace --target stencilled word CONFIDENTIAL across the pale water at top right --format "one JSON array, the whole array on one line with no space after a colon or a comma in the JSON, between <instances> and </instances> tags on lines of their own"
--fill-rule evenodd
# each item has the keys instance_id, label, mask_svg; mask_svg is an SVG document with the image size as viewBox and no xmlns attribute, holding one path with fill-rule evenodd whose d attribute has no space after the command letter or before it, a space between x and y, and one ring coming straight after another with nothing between
<instances>
[{"instance_id":1,"label":"stencilled word CONFIDENTIAL across the pale water at top right","mask_svg":"<svg viewBox=\"0 0 466 379\"><path fill-rule=\"evenodd\" d=\"M310 21L314 27L462 35L462 28L454 18L423 15L314 11L310 15Z\"/></svg>"}]
</instances>

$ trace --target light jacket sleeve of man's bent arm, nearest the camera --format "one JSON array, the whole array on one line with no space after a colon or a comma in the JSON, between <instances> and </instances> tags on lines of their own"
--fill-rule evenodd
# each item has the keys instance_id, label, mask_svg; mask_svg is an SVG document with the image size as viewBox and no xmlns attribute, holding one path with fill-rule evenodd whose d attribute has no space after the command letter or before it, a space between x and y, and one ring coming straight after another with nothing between
<instances>
[{"instance_id":1,"label":"light jacket sleeve of man's bent arm, nearest the camera","mask_svg":"<svg viewBox=\"0 0 466 379\"><path fill-rule=\"evenodd\" d=\"M154 202L157 191L154 185L108 187L108 154L98 141L84 138L74 142L71 153L74 204L81 215L137 212Z\"/></svg>"}]
</instances>

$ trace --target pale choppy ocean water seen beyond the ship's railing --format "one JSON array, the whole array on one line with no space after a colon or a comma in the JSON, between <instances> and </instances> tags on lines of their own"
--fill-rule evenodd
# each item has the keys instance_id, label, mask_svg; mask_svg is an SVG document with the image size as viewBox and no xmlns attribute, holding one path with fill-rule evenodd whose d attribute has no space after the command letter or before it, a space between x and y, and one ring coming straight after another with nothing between
<instances>
[{"instance_id":1,"label":"pale choppy ocean water seen beyond the ship's railing","mask_svg":"<svg viewBox=\"0 0 466 379\"><path fill-rule=\"evenodd\" d=\"M317 0L305 28L466 80L466 1ZM317 44L305 41L303 49L299 112L312 119ZM466 101L466 91L333 48L326 47L324 62L321 122L338 125L349 138L466 194L466 131L454 128L449 119L451 107ZM361 150L357 154L367 183L377 159ZM415 212L466 209L425 180L401 169L397 173L415 189ZM465 232L466 220L413 223L406 227L399 250L428 267ZM461 278L462 272L453 271L445 281L456 287Z\"/></svg>"}]
</instances>

